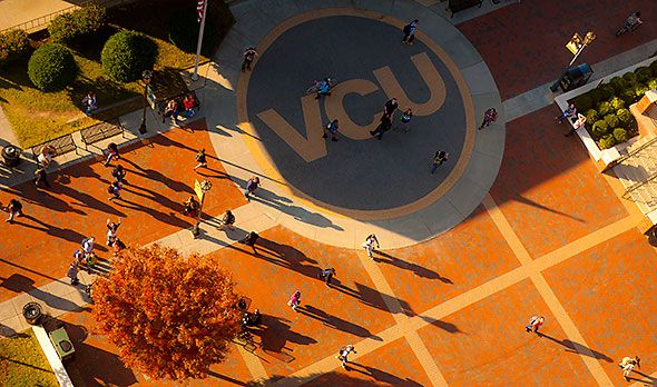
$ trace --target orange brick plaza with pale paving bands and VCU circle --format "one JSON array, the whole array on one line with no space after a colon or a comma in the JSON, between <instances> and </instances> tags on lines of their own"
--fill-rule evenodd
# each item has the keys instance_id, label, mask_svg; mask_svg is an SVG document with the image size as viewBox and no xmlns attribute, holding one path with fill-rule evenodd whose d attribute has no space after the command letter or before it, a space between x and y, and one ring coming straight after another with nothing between
<instances>
[{"instance_id":1,"label":"orange brick plaza with pale paving bands and VCU circle","mask_svg":"<svg viewBox=\"0 0 657 387\"><path fill-rule=\"evenodd\" d=\"M26 216L1 226L0 334L27 329L16 315L35 299L67 322L76 386L174 385L125 368L94 333L94 306L61 279L81 239L102 239L106 219L121 218L129 245L195 250L232 271L264 315L251 343L236 340L192 386L656 385L657 251L617 179L598 171L578 138L563 137L545 85L570 60L563 44L573 31L596 31L580 59L594 69L657 47L657 2L502 1L455 24L439 7L234 2L237 22L216 66L202 71L199 117L121 147L124 200L107 200L110 169L95 158L53 173L49 190L32 181L2 188L0 202L22 198ZM645 26L616 38L639 8ZM418 43L408 47L399 30L414 17ZM259 57L241 72L248 46ZM413 57L423 52L426 62ZM312 77L329 72L341 82L333 95L303 99ZM375 127L394 83L408 93L400 108L418 106L414 127L357 138ZM550 98L537 109L506 111L541 87ZM477 130L489 107L498 121ZM318 141L321 128L308 122L332 117L344 133ZM453 157L431 175L435 147ZM195 173L200 148L209 169ZM263 186L248 202L252 176ZM180 204L200 178L213 189L195 240ZM226 209L235 231L216 230ZM255 254L237 242L251 230L261 236ZM381 241L374 259L361 247L372 232ZM336 270L332 287L317 279L326 267ZM295 312L286 302L297 288ZM539 334L524 331L533 315L546 318ZM335 355L347 344L356 354L345 370ZM635 355L641 368L628 383L617 364Z\"/></svg>"}]
</instances>

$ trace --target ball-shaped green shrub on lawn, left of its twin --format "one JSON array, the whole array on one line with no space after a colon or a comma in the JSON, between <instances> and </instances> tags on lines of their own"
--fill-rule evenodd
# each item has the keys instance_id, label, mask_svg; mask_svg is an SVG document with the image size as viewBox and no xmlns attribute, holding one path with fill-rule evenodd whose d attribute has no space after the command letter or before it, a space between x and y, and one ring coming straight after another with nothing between
<instances>
[{"instance_id":1,"label":"ball-shaped green shrub on lawn, left of its twin","mask_svg":"<svg viewBox=\"0 0 657 387\"><path fill-rule=\"evenodd\" d=\"M57 43L39 47L28 62L28 76L37 89L60 90L78 73L78 66L69 49Z\"/></svg>"}]
</instances>

